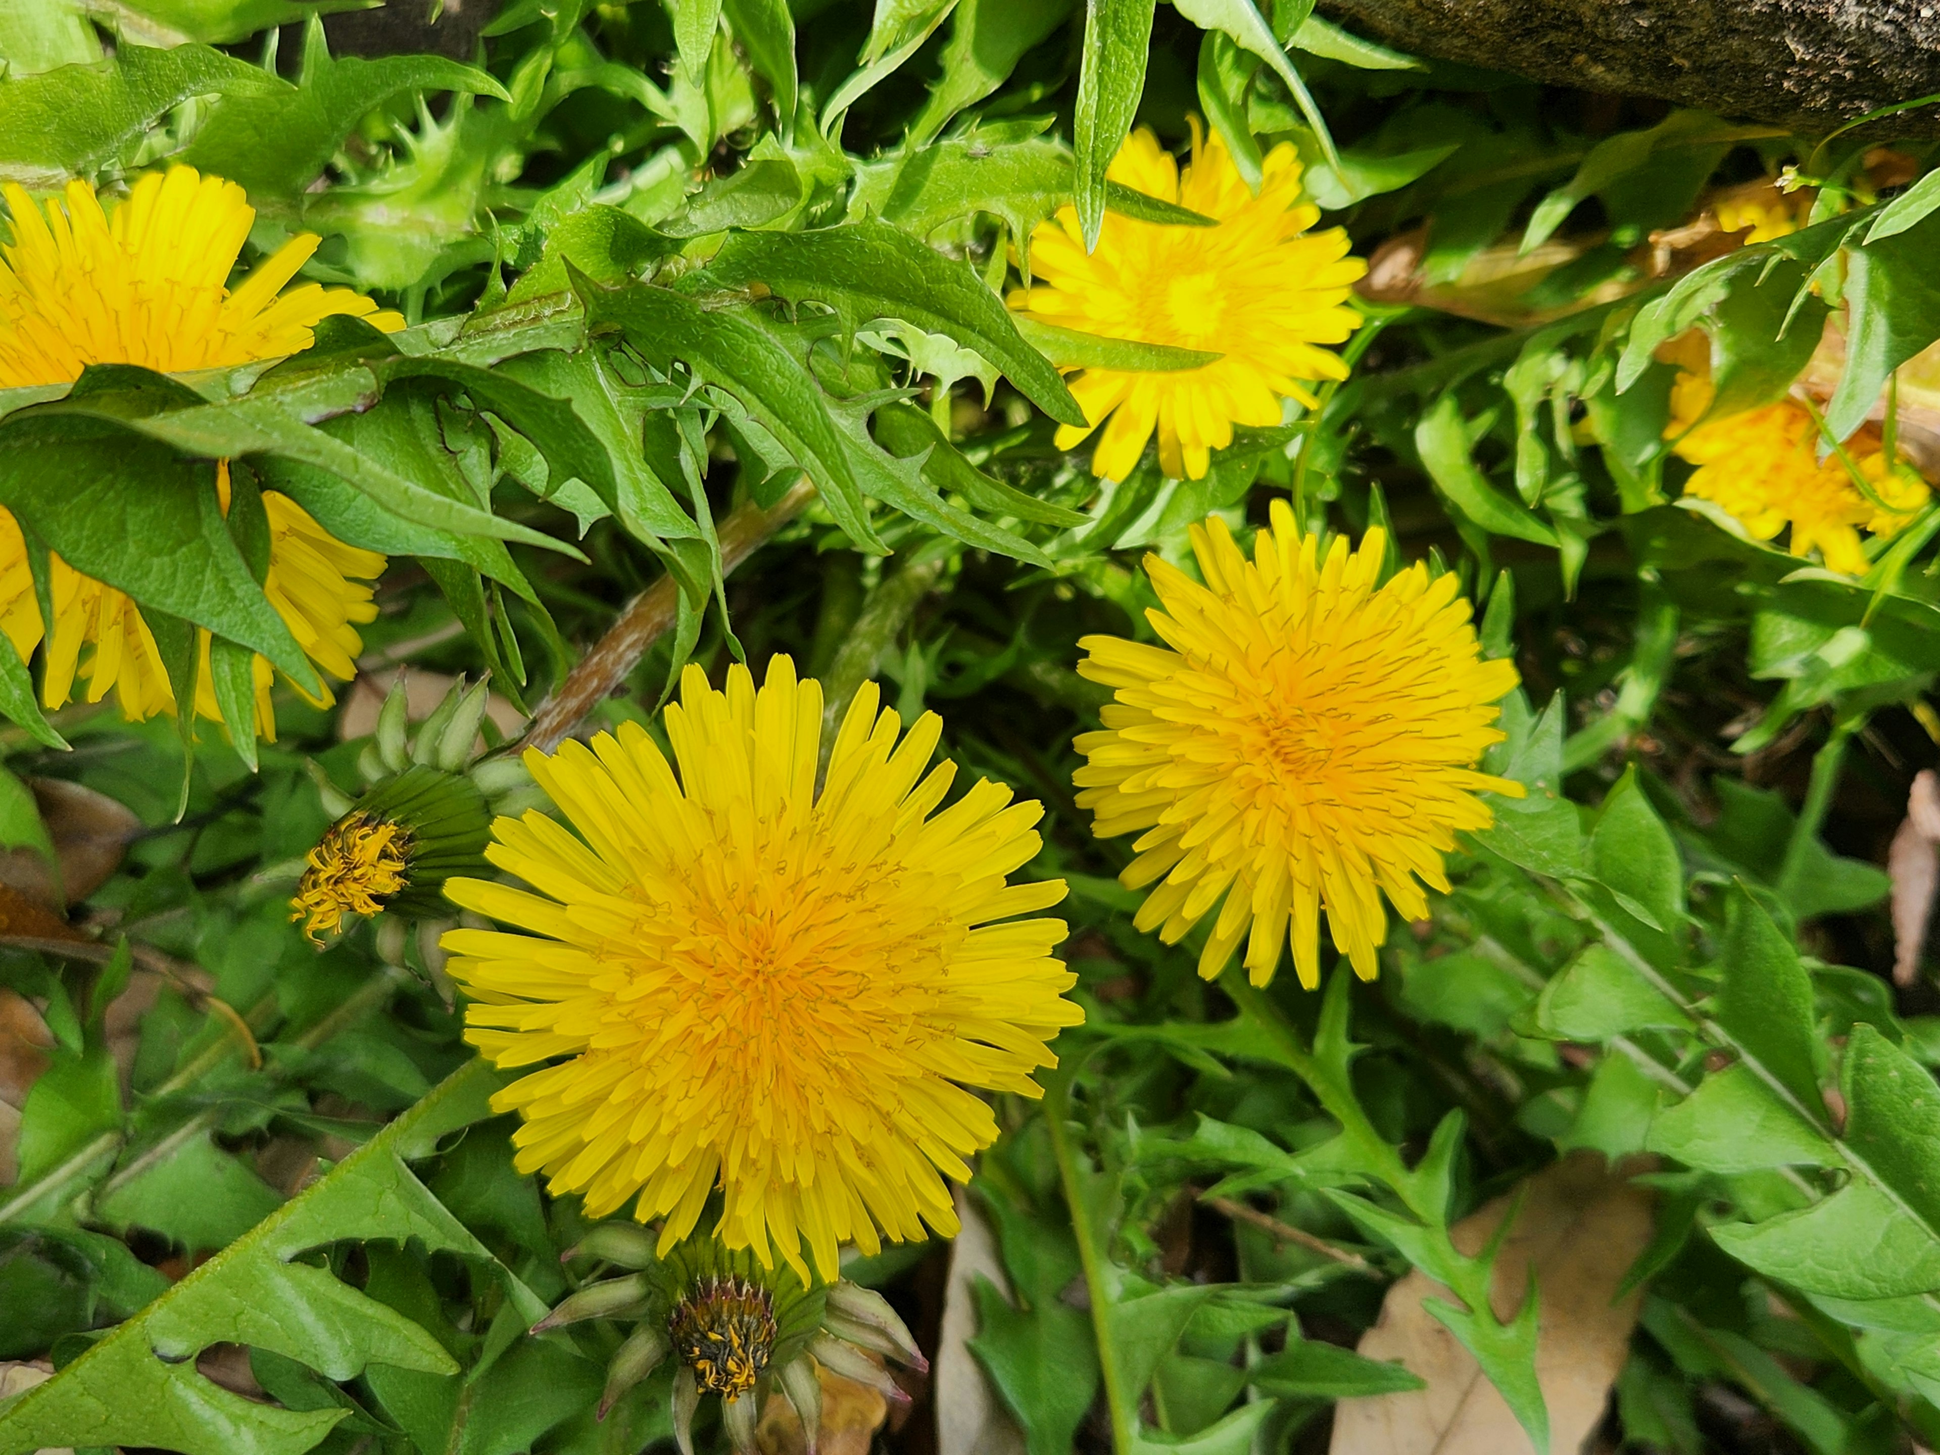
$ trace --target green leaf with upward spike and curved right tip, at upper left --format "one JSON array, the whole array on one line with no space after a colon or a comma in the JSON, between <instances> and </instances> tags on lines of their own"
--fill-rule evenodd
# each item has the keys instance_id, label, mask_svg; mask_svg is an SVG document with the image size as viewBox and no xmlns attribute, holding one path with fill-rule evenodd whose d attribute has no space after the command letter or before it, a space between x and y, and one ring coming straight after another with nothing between
<instances>
[{"instance_id":1,"label":"green leaf with upward spike and curved right tip, at upper left","mask_svg":"<svg viewBox=\"0 0 1940 1455\"><path fill-rule=\"evenodd\" d=\"M295 198L322 175L363 116L407 91L512 99L489 74L444 56L338 60L312 16L295 89L223 97L182 161L239 182L252 198Z\"/></svg>"}]
</instances>

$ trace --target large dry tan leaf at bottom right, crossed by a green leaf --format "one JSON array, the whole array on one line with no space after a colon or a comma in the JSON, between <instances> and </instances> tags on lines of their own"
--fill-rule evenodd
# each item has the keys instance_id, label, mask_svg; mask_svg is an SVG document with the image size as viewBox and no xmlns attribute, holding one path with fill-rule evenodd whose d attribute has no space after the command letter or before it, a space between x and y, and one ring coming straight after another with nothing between
<instances>
[{"instance_id":1,"label":"large dry tan leaf at bottom right, crossed by a green leaf","mask_svg":"<svg viewBox=\"0 0 1940 1455\"><path fill-rule=\"evenodd\" d=\"M1641 1164L1628 1172L1643 1170ZM1550 1406L1550 1449L1579 1451L1602 1420L1630 1348L1643 1290L1612 1304L1630 1265L1651 1242L1651 1193L1608 1170L1597 1152L1575 1152L1519 1189L1515 1226L1496 1259L1494 1302L1511 1315L1535 1265L1536 1377ZM1451 1230L1478 1251L1515 1201L1498 1197ZM1410 1273L1387 1290L1381 1319L1362 1337L1372 1360L1401 1360L1426 1389L1344 1399L1335 1410L1331 1455L1521 1455L1535 1451L1496 1387L1424 1298L1455 1302L1447 1288Z\"/></svg>"}]
</instances>

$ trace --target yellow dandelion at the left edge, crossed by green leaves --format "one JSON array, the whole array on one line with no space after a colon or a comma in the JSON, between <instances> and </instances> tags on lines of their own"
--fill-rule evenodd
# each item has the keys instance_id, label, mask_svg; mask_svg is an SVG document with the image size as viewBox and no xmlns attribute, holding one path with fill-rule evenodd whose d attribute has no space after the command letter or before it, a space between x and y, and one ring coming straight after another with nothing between
<instances>
[{"instance_id":1,"label":"yellow dandelion at the left edge, crossed by green leaves","mask_svg":"<svg viewBox=\"0 0 1940 1455\"><path fill-rule=\"evenodd\" d=\"M386 332L394 312L349 289L303 283L283 291L316 250L295 237L237 287L229 287L256 211L242 188L192 167L147 173L113 210L87 182L68 182L45 213L19 186L0 188L14 241L0 246L0 388L66 384L93 363L132 363L161 372L217 369L299 353L322 318L351 314ZM217 475L223 508L227 473ZM270 578L264 590L297 644L330 677L355 675L363 648L353 623L371 621L371 588L355 580L382 572L384 557L334 539L287 495L264 493L270 516ZM87 700L111 691L128 718L175 708L155 640L134 603L113 586L81 576L58 555L50 563L54 629L47 642L43 700L68 702L80 669ZM47 636L33 594L27 551L12 514L0 510L0 630L25 660ZM93 648L85 665L81 650ZM210 652L202 634L204 660ZM256 720L270 716L272 669L256 658ZM328 704L328 691L322 704ZM221 720L204 671L196 712Z\"/></svg>"}]
</instances>

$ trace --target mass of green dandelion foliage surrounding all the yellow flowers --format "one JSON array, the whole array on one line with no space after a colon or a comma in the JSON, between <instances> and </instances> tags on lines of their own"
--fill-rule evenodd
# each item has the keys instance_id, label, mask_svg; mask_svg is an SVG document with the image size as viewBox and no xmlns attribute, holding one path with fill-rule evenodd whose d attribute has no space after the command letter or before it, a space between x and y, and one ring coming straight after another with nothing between
<instances>
[{"instance_id":1,"label":"mass of green dandelion foliage surrounding all the yellow flowers","mask_svg":"<svg viewBox=\"0 0 1940 1455\"><path fill-rule=\"evenodd\" d=\"M299 281L405 320L0 392L12 609L58 611L60 555L227 724L43 708L52 648L0 648L0 986L31 1032L0 1358L58 1368L0 1406L0 1455L671 1439L671 1372L599 1422L611 1341L526 1337L568 1290L578 1201L514 1170L438 923L316 953L287 922L326 805L405 739L341 741L314 706L266 493L392 557L365 671L491 673L524 710L642 599L667 629L590 726L650 720L689 660L790 652L937 708L966 774L1044 801L1030 871L1071 885L1086 1024L1042 1104L993 1098L970 1201L999 1267L951 1321L1032 1455L1306 1447L1329 1403L1418 1385L1350 1348L1406 1271L1544 1447L1540 1288L1494 1304L1507 1253L1457 1230L1573 1148L1655 1158L1630 1445L1703 1447L1719 1385L1804 1449L1940 1441L1940 1038L1928 991L1884 978L1872 861L1932 762L1940 506L1837 574L1694 499L1666 433L1707 353L1707 421L1808 396L1827 444L1866 431L1849 456L1926 460L1928 142L1587 103L1306 0L528 0L388 47L336 10L0 0L0 178L113 196L196 165L248 190L252 256L318 233ZM1216 227L1106 175L1133 126L1183 151L1187 113L1249 184L1290 147L1321 225L1383 268L1329 345L1346 382L1238 427L1203 479L1147 454L1096 481L1057 444L1086 423L1067 382L1203 369L1226 338L1102 338L1005 295L1046 223ZM1717 206L1752 194L1800 225L1734 244ZM1077 642L1154 642L1141 557L1191 572L1189 526L1244 539L1275 501L1457 572L1525 683L1482 762L1525 793L1488 795L1375 986L1333 968L1317 995L1209 987L1197 935L1137 933L1129 854L1071 797L1106 698ZM47 778L140 819L101 873ZM945 1257L859 1267L908 1311ZM204 1374L231 1344L260 1399Z\"/></svg>"}]
</instances>

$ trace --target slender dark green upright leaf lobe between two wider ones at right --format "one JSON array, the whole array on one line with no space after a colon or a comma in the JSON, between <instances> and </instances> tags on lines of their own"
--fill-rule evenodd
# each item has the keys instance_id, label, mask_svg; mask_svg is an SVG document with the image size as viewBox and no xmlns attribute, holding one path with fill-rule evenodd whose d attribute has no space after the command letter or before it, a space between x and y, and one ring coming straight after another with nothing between
<instances>
[{"instance_id":1,"label":"slender dark green upright leaf lobe between two wider ones at right","mask_svg":"<svg viewBox=\"0 0 1940 1455\"><path fill-rule=\"evenodd\" d=\"M1818 1121L1818 1044L1812 1015L1812 980L1798 964L1798 951L1744 887L1730 894L1725 920L1725 984L1717 995L1717 1022L1781 1086L1796 1110Z\"/></svg>"}]
</instances>

